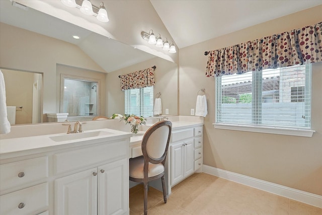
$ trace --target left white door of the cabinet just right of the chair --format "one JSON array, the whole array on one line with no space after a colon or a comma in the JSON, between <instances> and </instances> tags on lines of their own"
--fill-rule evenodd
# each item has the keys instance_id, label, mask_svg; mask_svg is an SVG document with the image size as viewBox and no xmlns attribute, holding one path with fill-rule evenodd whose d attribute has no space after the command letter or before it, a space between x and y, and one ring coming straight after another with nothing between
<instances>
[{"instance_id":1,"label":"left white door of the cabinet just right of the chair","mask_svg":"<svg viewBox=\"0 0 322 215\"><path fill-rule=\"evenodd\" d=\"M171 185L179 182L184 177L183 167L184 143L180 142L171 146Z\"/></svg>"}]
</instances>

